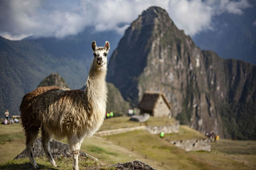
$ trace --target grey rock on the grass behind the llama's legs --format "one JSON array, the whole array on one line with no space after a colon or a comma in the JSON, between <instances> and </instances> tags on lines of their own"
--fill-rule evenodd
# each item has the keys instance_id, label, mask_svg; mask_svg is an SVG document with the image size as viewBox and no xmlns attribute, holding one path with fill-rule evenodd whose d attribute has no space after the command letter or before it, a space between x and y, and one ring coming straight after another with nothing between
<instances>
[{"instance_id":1,"label":"grey rock on the grass behind the llama's legs","mask_svg":"<svg viewBox=\"0 0 256 170\"><path fill-rule=\"evenodd\" d=\"M72 157L72 151L70 147L66 143L62 143L60 141L56 141L51 139L50 141L50 148L52 157ZM41 138L38 138L35 142L35 146L33 148L33 152L35 157L44 157L44 148L42 147ZM17 155L14 159L20 159L27 157L26 150L23 150L19 155ZM97 158L89 155L88 153L80 152L80 157L90 157L93 160L98 161Z\"/></svg>"}]
</instances>

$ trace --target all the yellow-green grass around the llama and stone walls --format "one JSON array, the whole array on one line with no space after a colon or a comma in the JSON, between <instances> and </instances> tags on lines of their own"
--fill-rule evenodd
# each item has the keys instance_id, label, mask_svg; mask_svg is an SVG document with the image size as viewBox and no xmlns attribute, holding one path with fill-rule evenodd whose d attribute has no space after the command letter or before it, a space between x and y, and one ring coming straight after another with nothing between
<instances>
[{"instance_id":1,"label":"all the yellow-green grass around the llama and stone walls","mask_svg":"<svg viewBox=\"0 0 256 170\"><path fill-rule=\"evenodd\" d=\"M162 125L165 124L163 119ZM124 125L122 125L122 121ZM129 118L110 118L105 128L140 125L127 122ZM161 119L152 122L161 121ZM108 123L106 123L108 122ZM125 122L127 124L125 124ZM149 122L149 121L148 121ZM212 152L185 152L168 143L166 139L204 138L204 135L184 125L178 134L165 134L164 138L147 131L132 131L113 136L93 136L85 139L81 151L99 159L95 162L79 157L80 169L108 169L108 165L139 159L156 169L253 169L256 164L256 141L220 139L212 143ZM61 140L67 143L67 139ZM29 159L12 160L25 148L24 132L20 124L0 126L0 169L29 169ZM45 158L36 158L41 169L54 169ZM56 159L58 168L72 169L72 158Z\"/></svg>"}]
</instances>

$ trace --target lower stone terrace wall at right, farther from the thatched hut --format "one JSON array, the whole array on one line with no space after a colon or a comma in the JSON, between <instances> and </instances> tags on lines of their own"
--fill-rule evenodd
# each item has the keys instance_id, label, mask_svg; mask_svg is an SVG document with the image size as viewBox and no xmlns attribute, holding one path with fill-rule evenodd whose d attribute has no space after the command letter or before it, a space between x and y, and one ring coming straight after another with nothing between
<instances>
[{"instance_id":1,"label":"lower stone terrace wall at right, farther from the thatched hut","mask_svg":"<svg viewBox=\"0 0 256 170\"><path fill-rule=\"evenodd\" d=\"M190 139L180 141L169 141L173 145L182 148L186 151L199 151L204 150L211 152L211 141L210 139Z\"/></svg>"}]
</instances>

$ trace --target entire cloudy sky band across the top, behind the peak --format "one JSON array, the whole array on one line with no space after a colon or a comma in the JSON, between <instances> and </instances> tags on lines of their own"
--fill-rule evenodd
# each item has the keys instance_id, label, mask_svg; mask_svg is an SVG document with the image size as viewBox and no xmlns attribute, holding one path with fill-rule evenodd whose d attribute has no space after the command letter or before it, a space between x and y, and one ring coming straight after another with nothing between
<instances>
[{"instance_id":1,"label":"entire cloudy sky band across the top, behind the peak","mask_svg":"<svg viewBox=\"0 0 256 170\"><path fill-rule=\"evenodd\" d=\"M224 12L243 15L252 5L247 0L0 0L0 35L63 38L88 26L123 34L149 6L164 8L179 29L193 36L214 29L214 16Z\"/></svg>"}]
</instances>

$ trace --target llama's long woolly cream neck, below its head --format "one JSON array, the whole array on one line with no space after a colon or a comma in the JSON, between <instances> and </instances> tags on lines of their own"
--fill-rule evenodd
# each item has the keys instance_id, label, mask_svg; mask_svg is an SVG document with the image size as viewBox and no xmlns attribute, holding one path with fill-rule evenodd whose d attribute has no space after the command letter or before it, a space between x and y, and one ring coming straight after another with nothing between
<instances>
[{"instance_id":1,"label":"llama's long woolly cream neck, below its head","mask_svg":"<svg viewBox=\"0 0 256 170\"><path fill-rule=\"evenodd\" d=\"M106 87L106 74L106 64L101 67L95 66L94 63L92 64L86 82L87 97L89 100L92 99L92 102L99 99L106 101L108 93Z\"/></svg>"}]
</instances>

